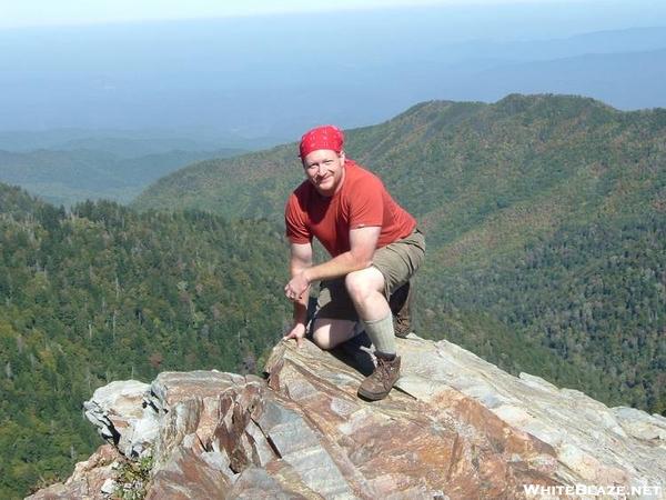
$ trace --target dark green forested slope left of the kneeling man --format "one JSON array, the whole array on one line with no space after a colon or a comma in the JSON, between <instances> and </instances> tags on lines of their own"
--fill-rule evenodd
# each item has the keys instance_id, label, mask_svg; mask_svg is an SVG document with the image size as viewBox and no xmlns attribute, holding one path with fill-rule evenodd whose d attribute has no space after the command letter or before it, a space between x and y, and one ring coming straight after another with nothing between
<instances>
[{"instance_id":1,"label":"dark green forested slope left of the kneeling man","mask_svg":"<svg viewBox=\"0 0 666 500\"><path fill-rule=\"evenodd\" d=\"M82 401L163 370L255 370L290 309L266 222L115 203L65 213L0 184L0 498L63 478L99 438Z\"/></svg>"}]
</instances>

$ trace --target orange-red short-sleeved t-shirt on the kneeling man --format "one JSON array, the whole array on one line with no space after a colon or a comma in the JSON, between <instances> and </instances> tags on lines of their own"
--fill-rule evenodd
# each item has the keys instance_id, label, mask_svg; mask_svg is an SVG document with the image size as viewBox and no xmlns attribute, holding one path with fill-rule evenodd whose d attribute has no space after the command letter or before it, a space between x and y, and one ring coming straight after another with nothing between
<instances>
[{"instance_id":1,"label":"orange-red short-sleeved t-shirt on the kneeling man","mask_svg":"<svg viewBox=\"0 0 666 500\"><path fill-rule=\"evenodd\" d=\"M315 237L332 257L350 250L350 230L380 226L377 248L405 238L416 220L397 204L374 173L352 160L344 163L345 178L332 197L323 197L304 181L286 201L284 220L292 243L309 243Z\"/></svg>"}]
</instances>

